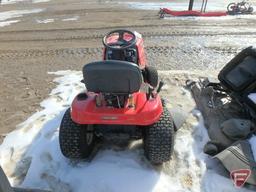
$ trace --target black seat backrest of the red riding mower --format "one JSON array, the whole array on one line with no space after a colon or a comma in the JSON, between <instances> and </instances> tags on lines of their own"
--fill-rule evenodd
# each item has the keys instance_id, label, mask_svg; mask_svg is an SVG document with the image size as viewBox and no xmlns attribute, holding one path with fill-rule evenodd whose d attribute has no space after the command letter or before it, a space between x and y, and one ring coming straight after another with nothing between
<instances>
[{"instance_id":1,"label":"black seat backrest of the red riding mower","mask_svg":"<svg viewBox=\"0 0 256 192\"><path fill-rule=\"evenodd\" d=\"M130 62L107 60L86 64L83 76L88 91L96 93L131 94L142 84L140 68Z\"/></svg>"}]
</instances>

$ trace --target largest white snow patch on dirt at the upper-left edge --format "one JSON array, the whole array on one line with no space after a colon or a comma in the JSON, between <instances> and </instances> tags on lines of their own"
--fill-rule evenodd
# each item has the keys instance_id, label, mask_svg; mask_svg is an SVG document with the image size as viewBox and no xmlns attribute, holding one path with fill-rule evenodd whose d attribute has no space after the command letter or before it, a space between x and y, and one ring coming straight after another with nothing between
<instances>
[{"instance_id":1,"label":"largest white snow patch on dirt at the upper-left edge","mask_svg":"<svg viewBox=\"0 0 256 192\"><path fill-rule=\"evenodd\" d=\"M39 13L43 9L31 9L31 10L13 10L0 12L0 27L11 25L12 23L18 23L20 20L10 20L12 18L20 18L23 15Z\"/></svg>"}]
</instances>

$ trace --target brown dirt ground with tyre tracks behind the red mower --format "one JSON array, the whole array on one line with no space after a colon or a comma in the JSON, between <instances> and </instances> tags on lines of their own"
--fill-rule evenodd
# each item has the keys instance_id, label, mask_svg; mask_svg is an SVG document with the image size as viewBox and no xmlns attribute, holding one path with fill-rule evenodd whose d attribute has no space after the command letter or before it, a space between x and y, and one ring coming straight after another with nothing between
<instances>
[{"instance_id":1,"label":"brown dirt ground with tyre tracks behind the red mower","mask_svg":"<svg viewBox=\"0 0 256 192\"><path fill-rule=\"evenodd\" d=\"M130 1L131 2L131 1ZM117 1L52 0L0 6L0 10L44 9L0 28L0 134L40 109L54 87L50 71L81 70L100 60L101 38L126 28L145 38L147 58L159 70L212 71L256 42L256 19L159 19ZM78 20L63 19L78 17ZM54 19L52 23L38 20Z\"/></svg>"}]
</instances>

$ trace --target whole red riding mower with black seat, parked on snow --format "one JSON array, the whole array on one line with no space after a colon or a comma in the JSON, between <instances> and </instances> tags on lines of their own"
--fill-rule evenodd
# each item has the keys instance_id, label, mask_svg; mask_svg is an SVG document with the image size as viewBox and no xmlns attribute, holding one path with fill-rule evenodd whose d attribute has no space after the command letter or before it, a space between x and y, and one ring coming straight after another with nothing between
<instances>
[{"instance_id":1,"label":"whole red riding mower with black seat, parked on snow","mask_svg":"<svg viewBox=\"0 0 256 192\"><path fill-rule=\"evenodd\" d=\"M97 138L114 134L143 138L145 155L153 164L170 160L174 123L158 95L163 83L158 85L156 69L146 64L141 35L116 30L103 38L103 44L103 61L83 67L87 92L76 96L62 119L63 155L88 158Z\"/></svg>"}]
</instances>

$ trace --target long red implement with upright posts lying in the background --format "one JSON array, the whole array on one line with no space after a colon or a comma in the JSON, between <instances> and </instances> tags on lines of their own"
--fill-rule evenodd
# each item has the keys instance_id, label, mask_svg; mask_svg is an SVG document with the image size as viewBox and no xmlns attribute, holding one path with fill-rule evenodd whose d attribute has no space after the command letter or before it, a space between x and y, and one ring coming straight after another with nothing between
<instances>
[{"instance_id":1,"label":"long red implement with upright posts lying in the background","mask_svg":"<svg viewBox=\"0 0 256 192\"><path fill-rule=\"evenodd\" d=\"M159 11L160 18L164 18L166 14L171 16L200 16L200 17L220 17L226 16L227 12L224 11L214 11L214 12L206 12L208 0L202 1L202 6L200 11L194 11L194 0L189 1L189 6L187 11L173 11L168 8L161 8Z\"/></svg>"}]
</instances>

